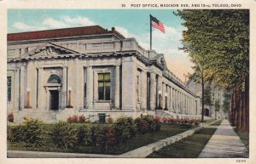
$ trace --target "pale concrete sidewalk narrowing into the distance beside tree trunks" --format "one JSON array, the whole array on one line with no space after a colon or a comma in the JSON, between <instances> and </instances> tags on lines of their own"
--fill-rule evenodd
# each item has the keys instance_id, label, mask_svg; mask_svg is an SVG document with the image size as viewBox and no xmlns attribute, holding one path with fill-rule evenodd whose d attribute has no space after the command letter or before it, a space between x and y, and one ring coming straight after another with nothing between
<instances>
[{"instance_id":1,"label":"pale concrete sidewalk narrowing into the distance beside tree trunks","mask_svg":"<svg viewBox=\"0 0 256 164\"><path fill-rule=\"evenodd\" d=\"M199 158L247 158L248 152L230 122L224 120L201 151Z\"/></svg>"}]
</instances>

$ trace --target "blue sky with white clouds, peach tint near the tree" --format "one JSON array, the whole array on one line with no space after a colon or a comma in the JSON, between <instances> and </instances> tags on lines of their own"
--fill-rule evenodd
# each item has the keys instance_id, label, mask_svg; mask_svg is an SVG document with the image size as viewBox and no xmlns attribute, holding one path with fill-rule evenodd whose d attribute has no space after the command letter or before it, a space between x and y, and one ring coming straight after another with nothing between
<instances>
[{"instance_id":1,"label":"blue sky with white clouds, peach tint near the tree","mask_svg":"<svg viewBox=\"0 0 256 164\"><path fill-rule=\"evenodd\" d=\"M135 37L143 47L149 48L149 14L164 23L166 34L153 28L153 49L163 53L166 64L178 77L191 72L189 57L182 47L183 20L172 9L9 9L8 33L38 31L75 26L101 25L115 27L125 37Z\"/></svg>"}]
</instances>

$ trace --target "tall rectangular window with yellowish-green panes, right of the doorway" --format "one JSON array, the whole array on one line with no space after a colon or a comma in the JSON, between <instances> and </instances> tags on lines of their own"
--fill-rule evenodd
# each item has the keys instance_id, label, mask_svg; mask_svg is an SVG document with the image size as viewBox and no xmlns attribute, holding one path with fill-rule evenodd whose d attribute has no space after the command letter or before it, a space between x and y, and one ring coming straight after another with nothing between
<instances>
[{"instance_id":1,"label":"tall rectangular window with yellowish-green panes, right of the doorway","mask_svg":"<svg viewBox=\"0 0 256 164\"><path fill-rule=\"evenodd\" d=\"M110 100L110 73L98 73L99 100Z\"/></svg>"}]
</instances>

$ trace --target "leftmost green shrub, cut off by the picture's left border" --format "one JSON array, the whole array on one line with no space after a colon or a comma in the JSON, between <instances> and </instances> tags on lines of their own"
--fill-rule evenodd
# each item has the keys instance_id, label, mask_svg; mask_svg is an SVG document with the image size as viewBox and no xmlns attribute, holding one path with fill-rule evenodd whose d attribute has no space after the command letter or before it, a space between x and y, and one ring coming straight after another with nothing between
<instances>
[{"instance_id":1,"label":"leftmost green shrub, cut off by the picture's left border","mask_svg":"<svg viewBox=\"0 0 256 164\"><path fill-rule=\"evenodd\" d=\"M22 142L24 141L24 126L8 126L7 127L7 139L10 142Z\"/></svg>"}]
</instances>

